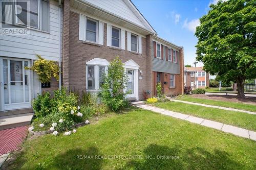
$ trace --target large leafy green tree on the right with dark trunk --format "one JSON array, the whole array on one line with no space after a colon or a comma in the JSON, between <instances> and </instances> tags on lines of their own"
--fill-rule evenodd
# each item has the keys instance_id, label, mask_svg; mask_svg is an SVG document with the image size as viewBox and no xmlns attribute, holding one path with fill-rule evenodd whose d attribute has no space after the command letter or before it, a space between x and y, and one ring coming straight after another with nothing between
<instances>
[{"instance_id":1,"label":"large leafy green tree on the right with dark trunk","mask_svg":"<svg viewBox=\"0 0 256 170\"><path fill-rule=\"evenodd\" d=\"M197 60L204 70L238 84L244 97L244 82L256 78L256 1L229 0L210 5L200 18Z\"/></svg>"}]
</instances>

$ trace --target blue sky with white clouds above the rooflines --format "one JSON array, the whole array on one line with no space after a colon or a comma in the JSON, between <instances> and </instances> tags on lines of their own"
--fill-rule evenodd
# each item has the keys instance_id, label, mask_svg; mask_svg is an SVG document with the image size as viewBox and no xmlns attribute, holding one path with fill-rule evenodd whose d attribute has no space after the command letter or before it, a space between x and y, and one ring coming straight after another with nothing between
<instances>
[{"instance_id":1,"label":"blue sky with white clouds above the rooflines","mask_svg":"<svg viewBox=\"0 0 256 170\"><path fill-rule=\"evenodd\" d=\"M184 64L196 60L195 28L207 14L209 4L218 0L132 0L158 36L184 47ZM203 63L197 64L203 66Z\"/></svg>"}]
</instances>

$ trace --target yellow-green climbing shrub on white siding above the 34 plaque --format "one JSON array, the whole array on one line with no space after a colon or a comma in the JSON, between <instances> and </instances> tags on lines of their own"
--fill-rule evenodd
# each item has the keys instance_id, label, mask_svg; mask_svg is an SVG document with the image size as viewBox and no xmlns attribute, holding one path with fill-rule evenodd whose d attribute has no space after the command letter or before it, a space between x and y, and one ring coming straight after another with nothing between
<instances>
[{"instance_id":1,"label":"yellow-green climbing shrub on white siding above the 34 plaque","mask_svg":"<svg viewBox=\"0 0 256 170\"><path fill-rule=\"evenodd\" d=\"M32 67L25 67L25 69L31 69L35 71L42 83L50 82L52 76L58 81L59 66L54 61L46 60L40 55L36 56L38 59L34 62Z\"/></svg>"}]
</instances>

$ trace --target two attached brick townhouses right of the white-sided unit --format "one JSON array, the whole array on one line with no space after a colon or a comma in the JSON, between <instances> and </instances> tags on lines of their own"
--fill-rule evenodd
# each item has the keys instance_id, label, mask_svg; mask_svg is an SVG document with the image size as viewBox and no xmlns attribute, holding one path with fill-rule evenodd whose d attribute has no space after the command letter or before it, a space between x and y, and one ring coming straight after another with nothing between
<instances>
[{"instance_id":1,"label":"two attached brick townhouses right of the white-sided unit","mask_svg":"<svg viewBox=\"0 0 256 170\"><path fill-rule=\"evenodd\" d=\"M115 5L113 5L115 4ZM183 93L183 47L157 36L131 1L63 2L63 86L99 92L102 73L116 56L129 78L129 99Z\"/></svg>"}]
</instances>

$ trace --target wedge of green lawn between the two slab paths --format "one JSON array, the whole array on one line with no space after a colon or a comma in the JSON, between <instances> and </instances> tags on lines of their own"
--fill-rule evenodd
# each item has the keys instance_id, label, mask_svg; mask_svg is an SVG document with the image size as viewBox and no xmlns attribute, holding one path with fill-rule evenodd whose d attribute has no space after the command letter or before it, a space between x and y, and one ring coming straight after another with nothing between
<instances>
[{"instance_id":1,"label":"wedge of green lawn between the two slab paths","mask_svg":"<svg viewBox=\"0 0 256 170\"><path fill-rule=\"evenodd\" d=\"M190 105L180 102L155 103L154 106L256 131L256 115L253 114Z\"/></svg>"}]
</instances>

